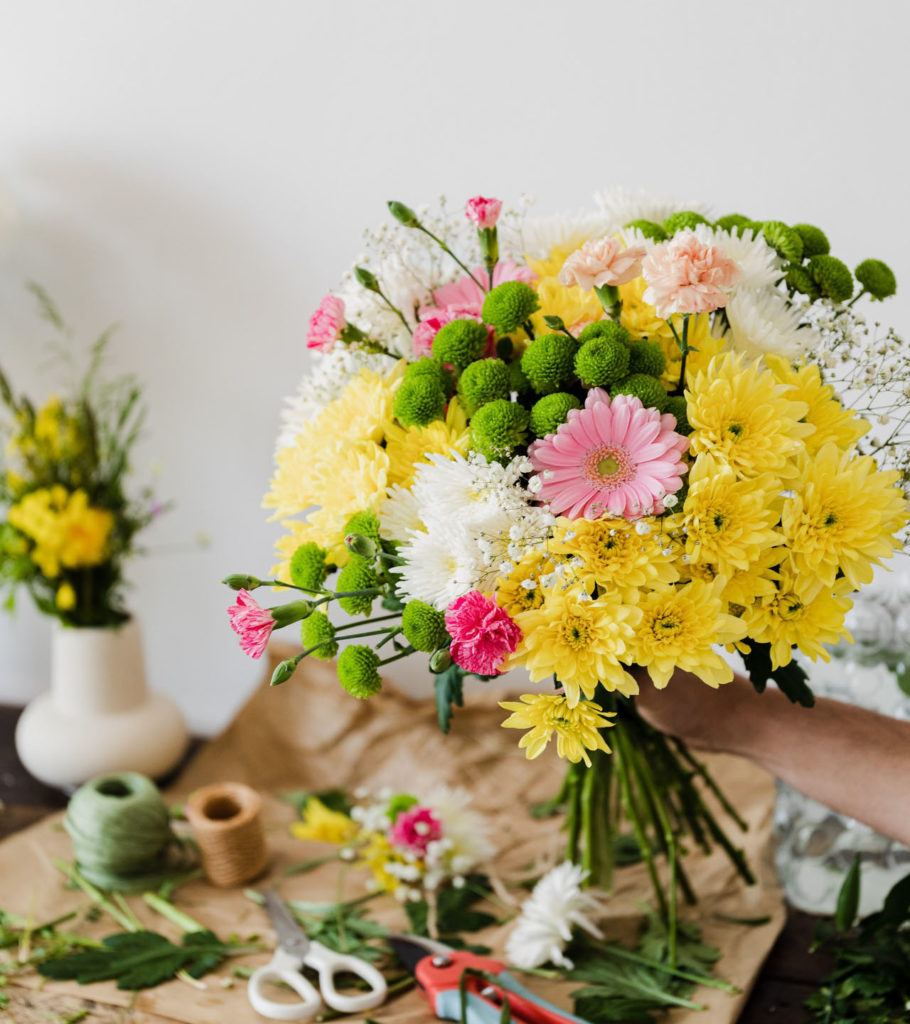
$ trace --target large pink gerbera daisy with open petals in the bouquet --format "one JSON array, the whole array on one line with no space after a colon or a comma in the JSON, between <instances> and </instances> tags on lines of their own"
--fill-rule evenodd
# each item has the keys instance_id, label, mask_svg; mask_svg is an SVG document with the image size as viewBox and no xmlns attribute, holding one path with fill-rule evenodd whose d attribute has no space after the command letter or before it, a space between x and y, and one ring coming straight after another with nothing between
<instances>
[{"instance_id":1,"label":"large pink gerbera daisy with open petals in the bouquet","mask_svg":"<svg viewBox=\"0 0 910 1024\"><path fill-rule=\"evenodd\" d=\"M540 477L538 497L556 515L637 519L663 511L661 501L683 485L681 456L688 438L673 416L641 399L592 388L584 409L570 410L555 434L534 441L528 455Z\"/></svg>"}]
</instances>

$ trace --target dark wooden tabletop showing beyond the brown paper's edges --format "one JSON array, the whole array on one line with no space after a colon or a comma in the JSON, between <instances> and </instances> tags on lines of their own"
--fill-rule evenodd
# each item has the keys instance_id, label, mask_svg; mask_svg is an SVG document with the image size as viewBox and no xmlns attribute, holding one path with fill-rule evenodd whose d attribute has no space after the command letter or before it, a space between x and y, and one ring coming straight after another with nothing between
<instances>
[{"instance_id":1,"label":"dark wooden tabletop showing beyond the brown paper's edges","mask_svg":"<svg viewBox=\"0 0 910 1024\"><path fill-rule=\"evenodd\" d=\"M37 782L19 763L13 744L18 715L18 709L0 705L0 839L67 805L63 794ZM825 957L809 952L815 921L808 913L789 910L786 928L768 957L739 1024L807 1024L803 1000L829 966Z\"/></svg>"}]
</instances>

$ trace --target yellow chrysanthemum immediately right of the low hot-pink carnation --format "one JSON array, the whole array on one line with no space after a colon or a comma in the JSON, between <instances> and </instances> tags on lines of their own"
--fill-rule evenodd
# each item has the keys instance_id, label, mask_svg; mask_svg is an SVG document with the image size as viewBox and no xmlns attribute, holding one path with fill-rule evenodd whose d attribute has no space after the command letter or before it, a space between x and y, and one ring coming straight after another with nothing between
<instances>
[{"instance_id":1,"label":"yellow chrysanthemum immediately right of the low hot-pink carnation","mask_svg":"<svg viewBox=\"0 0 910 1024\"><path fill-rule=\"evenodd\" d=\"M586 597L577 589L549 590L539 608L517 615L524 636L506 666L523 665L533 683L556 675L572 708L582 693L591 699L599 683L625 696L638 693L621 662L632 660L630 643L641 612L615 595Z\"/></svg>"}]
</instances>

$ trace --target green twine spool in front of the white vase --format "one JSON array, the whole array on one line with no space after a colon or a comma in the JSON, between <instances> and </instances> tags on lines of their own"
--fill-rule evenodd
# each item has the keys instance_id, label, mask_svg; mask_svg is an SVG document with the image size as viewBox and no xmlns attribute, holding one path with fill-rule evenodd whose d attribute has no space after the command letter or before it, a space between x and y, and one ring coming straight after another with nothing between
<instances>
[{"instance_id":1,"label":"green twine spool in front of the white vase","mask_svg":"<svg viewBox=\"0 0 910 1024\"><path fill-rule=\"evenodd\" d=\"M79 870L99 889L135 892L161 882L174 834L167 805L144 775L86 782L73 794L63 826Z\"/></svg>"}]
</instances>

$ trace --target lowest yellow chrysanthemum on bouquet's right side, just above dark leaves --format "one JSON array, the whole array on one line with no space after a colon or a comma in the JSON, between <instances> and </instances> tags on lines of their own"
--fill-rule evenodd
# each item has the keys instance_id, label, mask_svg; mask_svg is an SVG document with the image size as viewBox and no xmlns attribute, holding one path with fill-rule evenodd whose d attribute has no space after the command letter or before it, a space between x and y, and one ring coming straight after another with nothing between
<instances>
[{"instance_id":1,"label":"lowest yellow chrysanthemum on bouquet's right side, just above dark leaves","mask_svg":"<svg viewBox=\"0 0 910 1024\"><path fill-rule=\"evenodd\" d=\"M850 584L837 580L832 587L819 589L815 578L806 579L786 562L780 568L780 581L774 592L752 604L746 611L749 636L759 643L771 644L773 668L789 665L795 644L813 662L831 655L824 645L852 638L843 618L853 607L844 595Z\"/></svg>"}]
</instances>

